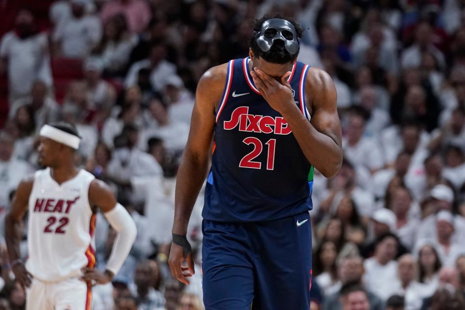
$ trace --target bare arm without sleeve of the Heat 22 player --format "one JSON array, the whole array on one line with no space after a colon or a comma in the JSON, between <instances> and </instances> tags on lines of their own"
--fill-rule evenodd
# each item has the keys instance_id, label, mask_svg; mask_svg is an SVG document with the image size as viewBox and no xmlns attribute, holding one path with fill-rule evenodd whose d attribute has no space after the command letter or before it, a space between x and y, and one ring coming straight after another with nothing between
<instances>
[{"instance_id":1,"label":"bare arm without sleeve of the Heat 22 player","mask_svg":"<svg viewBox=\"0 0 465 310\"><path fill-rule=\"evenodd\" d=\"M5 217L5 240L10 256L10 263L15 278L23 287L31 285L31 274L27 272L21 260L19 244L21 242L21 221L28 210L29 196L31 195L34 178L27 178L19 183L10 211Z\"/></svg>"}]
</instances>

